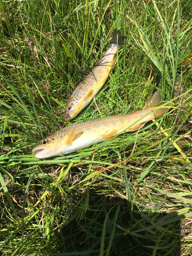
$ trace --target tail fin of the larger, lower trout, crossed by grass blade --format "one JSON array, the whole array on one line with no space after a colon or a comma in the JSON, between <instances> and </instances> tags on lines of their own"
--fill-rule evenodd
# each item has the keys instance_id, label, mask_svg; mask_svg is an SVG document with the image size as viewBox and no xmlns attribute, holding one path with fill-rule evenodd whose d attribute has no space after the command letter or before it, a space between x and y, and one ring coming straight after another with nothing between
<instances>
[{"instance_id":1,"label":"tail fin of the larger, lower trout, crossed by grass blade","mask_svg":"<svg viewBox=\"0 0 192 256\"><path fill-rule=\"evenodd\" d=\"M148 105L146 106L145 109L158 107L162 104L163 103L161 103L160 90L157 90L154 93L154 95L152 96L152 98L150 99L150 101L149 101L149 103L148 103ZM165 106L171 106L171 105L172 105L171 103L167 103ZM157 117L157 116L163 115L163 113L165 113L165 111L167 109L168 108L158 108L158 109L154 110L153 113Z\"/></svg>"}]
</instances>

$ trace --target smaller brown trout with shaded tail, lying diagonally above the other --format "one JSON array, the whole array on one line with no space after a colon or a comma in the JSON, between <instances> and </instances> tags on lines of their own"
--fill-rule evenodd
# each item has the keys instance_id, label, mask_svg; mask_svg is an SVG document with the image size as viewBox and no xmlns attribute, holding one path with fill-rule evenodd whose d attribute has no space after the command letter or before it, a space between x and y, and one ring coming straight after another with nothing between
<instances>
[{"instance_id":1,"label":"smaller brown trout with shaded tail, lying diagonally above the other","mask_svg":"<svg viewBox=\"0 0 192 256\"><path fill-rule=\"evenodd\" d=\"M96 67L93 67L87 75L84 75L82 81L72 93L64 111L64 118L70 120L77 116L79 112L91 102L105 84L105 81L116 62L115 54L117 52L117 38L118 49L124 46L125 37L122 37L120 31L115 30L107 52L105 52Z\"/></svg>"}]
</instances>

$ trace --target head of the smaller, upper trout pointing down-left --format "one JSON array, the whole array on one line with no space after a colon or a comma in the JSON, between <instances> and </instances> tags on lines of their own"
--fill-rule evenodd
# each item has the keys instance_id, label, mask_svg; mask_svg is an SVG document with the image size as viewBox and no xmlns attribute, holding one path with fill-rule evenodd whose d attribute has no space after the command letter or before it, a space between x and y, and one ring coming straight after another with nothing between
<instances>
[{"instance_id":1,"label":"head of the smaller, upper trout pointing down-left","mask_svg":"<svg viewBox=\"0 0 192 256\"><path fill-rule=\"evenodd\" d=\"M64 110L64 118L70 120L76 117L79 114L79 112L83 109L83 105L84 103L81 97L76 96L70 98Z\"/></svg>"}]
</instances>

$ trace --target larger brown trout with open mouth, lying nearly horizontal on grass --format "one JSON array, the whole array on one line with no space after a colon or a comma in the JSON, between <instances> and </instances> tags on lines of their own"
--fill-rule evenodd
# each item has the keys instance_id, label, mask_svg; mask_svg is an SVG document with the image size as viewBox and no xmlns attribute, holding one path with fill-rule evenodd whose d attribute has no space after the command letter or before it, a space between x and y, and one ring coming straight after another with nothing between
<instances>
[{"instance_id":1,"label":"larger brown trout with open mouth, lying nearly horizontal on grass","mask_svg":"<svg viewBox=\"0 0 192 256\"><path fill-rule=\"evenodd\" d=\"M35 158L69 154L95 143L109 140L124 131L135 131L143 127L145 122L165 113L168 107L158 108L161 105L160 102L160 91L157 91L147 107L141 111L87 120L65 127L41 140L33 148L32 154L35 155ZM151 110L151 108L155 109Z\"/></svg>"}]
</instances>

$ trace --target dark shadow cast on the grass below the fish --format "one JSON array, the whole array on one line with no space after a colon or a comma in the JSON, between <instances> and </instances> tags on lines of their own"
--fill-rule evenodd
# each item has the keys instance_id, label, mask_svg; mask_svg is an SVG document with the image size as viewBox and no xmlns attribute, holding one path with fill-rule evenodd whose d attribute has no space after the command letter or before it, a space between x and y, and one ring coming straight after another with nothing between
<instances>
[{"instance_id":1,"label":"dark shadow cast on the grass below the fish","mask_svg":"<svg viewBox=\"0 0 192 256\"><path fill-rule=\"evenodd\" d=\"M120 197L97 193L90 193L87 210L61 227L61 240L49 255L183 255L185 234L181 234L180 221L172 222L174 212L153 209L151 213L150 206L142 211Z\"/></svg>"}]
</instances>

